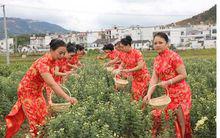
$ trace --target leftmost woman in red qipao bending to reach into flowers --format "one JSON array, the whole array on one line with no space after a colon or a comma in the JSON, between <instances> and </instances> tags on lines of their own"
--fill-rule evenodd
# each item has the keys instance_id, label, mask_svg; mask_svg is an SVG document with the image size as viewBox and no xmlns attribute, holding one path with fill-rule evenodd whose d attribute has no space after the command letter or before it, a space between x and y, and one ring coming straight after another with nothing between
<instances>
[{"instance_id":1,"label":"leftmost woman in red qipao bending to reach into flowers","mask_svg":"<svg viewBox=\"0 0 220 138\"><path fill-rule=\"evenodd\" d=\"M21 124L27 118L32 137L37 136L38 128L45 124L47 115L46 101L43 96L43 87L46 83L59 96L71 104L77 103L73 97L69 97L54 81L51 68L55 61L61 59L66 52L66 44L59 39L50 42L50 52L36 60L18 86L18 100L6 116L6 138L14 136Z\"/></svg>"}]
</instances>

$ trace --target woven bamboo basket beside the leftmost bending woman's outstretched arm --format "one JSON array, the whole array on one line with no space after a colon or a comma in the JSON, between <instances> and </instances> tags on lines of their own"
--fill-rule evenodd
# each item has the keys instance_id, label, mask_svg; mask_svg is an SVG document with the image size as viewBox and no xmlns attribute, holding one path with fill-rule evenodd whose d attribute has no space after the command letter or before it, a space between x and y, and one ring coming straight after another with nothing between
<instances>
[{"instance_id":1,"label":"woven bamboo basket beside the leftmost bending woman's outstretched arm","mask_svg":"<svg viewBox=\"0 0 220 138\"><path fill-rule=\"evenodd\" d=\"M60 86L61 86L65 91L67 91L67 92L69 93L69 96L71 97L70 91L69 91L66 87L64 87L64 86L62 86L62 85L60 85ZM51 110L52 112L65 112L65 111L68 111L68 110L69 110L70 106L71 106L71 104L70 104L69 102L67 102L67 103L53 103L53 104L50 106L50 110Z\"/></svg>"}]
</instances>

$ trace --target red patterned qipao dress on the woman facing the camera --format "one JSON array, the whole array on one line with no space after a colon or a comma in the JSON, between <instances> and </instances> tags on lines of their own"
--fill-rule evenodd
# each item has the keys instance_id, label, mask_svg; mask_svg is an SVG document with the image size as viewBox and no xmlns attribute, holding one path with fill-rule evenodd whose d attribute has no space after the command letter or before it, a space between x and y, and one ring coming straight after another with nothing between
<instances>
[{"instance_id":1,"label":"red patterned qipao dress on the woman facing the camera","mask_svg":"<svg viewBox=\"0 0 220 138\"><path fill-rule=\"evenodd\" d=\"M154 60L154 70L161 81L167 81L178 75L176 69L183 65L182 58L175 52L166 49ZM171 103L165 109L165 113L168 110L174 111L180 105L184 113L185 121L185 138L191 138L190 128L190 109L191 109L191 90L185 80L181 80L175 84L168 86L168 93L171 98ZM157 122L160 119L160 110L154 110L154 121ZM168 116L168 114L166 114ZM175 121L176 137L181 138L180 125L178 121ZM156 127L156 126L155 126ZM153 128L153 133L156 133L156 128Z\"/></svg>"}]
</instances>

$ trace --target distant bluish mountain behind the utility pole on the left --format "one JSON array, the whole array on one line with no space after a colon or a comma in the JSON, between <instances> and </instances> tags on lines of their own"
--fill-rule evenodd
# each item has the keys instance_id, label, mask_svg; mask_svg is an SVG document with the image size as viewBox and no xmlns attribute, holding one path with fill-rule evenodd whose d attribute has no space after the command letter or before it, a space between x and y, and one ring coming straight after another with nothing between
<instances>
[{"instance_id":1,"label":"distant bluish mountain behind the utility pole on the left","mask_svg":"<svg viewBox=\"0 0 220 138\"><path fill-rule=\"evenodd\" d=\"M67 33L68 30L59 25L30 19L7 18L8 35ZM0 18L0 38L4 37L4 20Z\"/></svg>"}]
</instances>

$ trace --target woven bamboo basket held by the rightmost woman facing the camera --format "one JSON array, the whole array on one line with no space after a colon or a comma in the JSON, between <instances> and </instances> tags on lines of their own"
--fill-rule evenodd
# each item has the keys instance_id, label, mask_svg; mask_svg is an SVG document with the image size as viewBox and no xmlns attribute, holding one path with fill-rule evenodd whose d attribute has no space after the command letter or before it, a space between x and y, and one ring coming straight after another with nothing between
<instances>
[{"instance_id":1,"label":"woven bamboo basket held by the rightmost woman facing the camera","mask_svg":"<svg viewBox=\"0 0 220 138\"><path fill-rule=\"evenodd\" d=\"M152 86L151 88L157 86L158 84ZM151 89L150 88L150 89ZM167 88L166 88L167 90ZM157 97L157 98L152 98L149 100L149 105L151 105L153 108L156 108L156 109L165 109L167 107L167 105L171 102L171 99L169 97L169 93L168 93L168 90L167 90L167 95L162 95L160 97Z\"/></svg>"}]
</instances>

